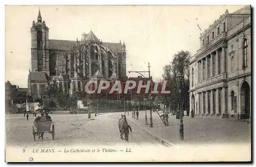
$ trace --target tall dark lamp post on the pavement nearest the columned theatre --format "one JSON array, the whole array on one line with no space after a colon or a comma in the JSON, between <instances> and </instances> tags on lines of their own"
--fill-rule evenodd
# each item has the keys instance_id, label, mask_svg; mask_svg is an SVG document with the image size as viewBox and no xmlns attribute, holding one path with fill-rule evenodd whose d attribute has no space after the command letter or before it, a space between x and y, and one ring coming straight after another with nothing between
<instances>
[{"instance_id":1,"label":"tall dark lamp post on the pavement nearest the columned theatre","mask_svg":"<svg viewBox=\"0 0 256 167\"><path fill-rule=\"evenodd\" d=\"M181 73L179 73L177 77L180 84L180 140L183 140L184 130L183 130L183 111L182 111L182 89L183 89L184 76Z\"/></svg>"}]
</instances>

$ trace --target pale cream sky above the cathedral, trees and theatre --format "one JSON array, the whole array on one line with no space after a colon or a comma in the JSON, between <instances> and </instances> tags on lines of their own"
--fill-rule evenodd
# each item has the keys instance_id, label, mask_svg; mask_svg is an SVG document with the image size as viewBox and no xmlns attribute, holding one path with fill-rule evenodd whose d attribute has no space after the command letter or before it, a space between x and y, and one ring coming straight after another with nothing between
<instances>
[{"instance_id":1,"label":"pale cream sky above the cathedral, trees and theatre","mask_svg":"<svg viewBox=\"0 0 256 167\"><path fill-rule=\"evenodd\" d=\"M103 42L124 41L126 71L146 71L150 62L154 81L163 67L184 50L194 55L200 48L201 30L208 29L228 9L243 6L6 6L5 81L28 87L31 68L32 21L40 8L49 39L81 39L90 30ZM144 76L148 74L145 73ZM127 73L127 77L137 77Z\"/></svg>"}]
</instances>

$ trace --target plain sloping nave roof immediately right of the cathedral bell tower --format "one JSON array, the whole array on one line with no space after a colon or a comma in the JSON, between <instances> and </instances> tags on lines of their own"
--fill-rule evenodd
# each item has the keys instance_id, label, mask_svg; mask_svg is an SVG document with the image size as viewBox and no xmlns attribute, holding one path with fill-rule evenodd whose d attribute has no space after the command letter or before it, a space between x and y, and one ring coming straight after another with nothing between
<instances>
[{"instance_id":1,"label":"plain sloping nave roof immediately right of the cathedral bell tower","mask_svg":"<svg viewBox=\"0 0 256 167\"><path fill-rule=\"evenodd\" d=\"M52 50L70 50L70 47L76 44L73 40L49 39L49 49Z\"/></svg>"}]
</instances>

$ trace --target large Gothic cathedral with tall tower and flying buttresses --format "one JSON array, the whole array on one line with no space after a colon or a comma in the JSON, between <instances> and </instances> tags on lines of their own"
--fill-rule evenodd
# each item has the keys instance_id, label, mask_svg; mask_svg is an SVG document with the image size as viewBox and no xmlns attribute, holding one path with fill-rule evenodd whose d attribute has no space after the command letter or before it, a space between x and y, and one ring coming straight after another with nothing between
<instances>
[{"instance_id":1,"label":"large Gothic cathedral with tall tower and flying buttresses","mask_svg":"<svg viewBox=\"0 0 256 167\"><path fill-rule=\"evenodd\" d=\"M58 91L72 97L75 92L86 93L90 80L127 80L124 42L102 42L92 31L76 41L49 39L39 10L31 27L29 95L45 99L48 87L56 83Z\"/></svg>"}]
</instances>

